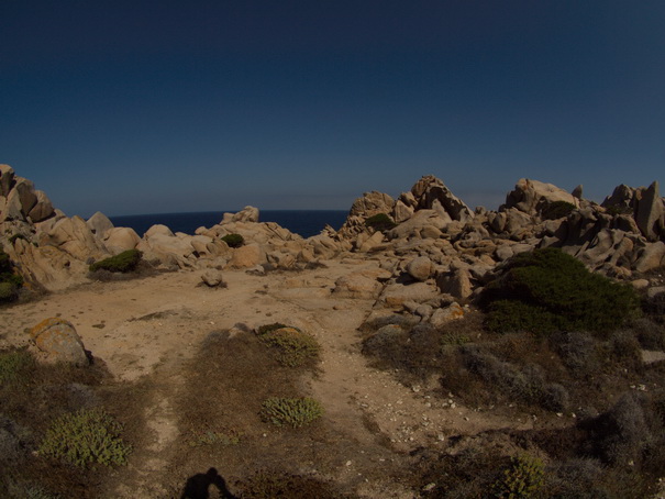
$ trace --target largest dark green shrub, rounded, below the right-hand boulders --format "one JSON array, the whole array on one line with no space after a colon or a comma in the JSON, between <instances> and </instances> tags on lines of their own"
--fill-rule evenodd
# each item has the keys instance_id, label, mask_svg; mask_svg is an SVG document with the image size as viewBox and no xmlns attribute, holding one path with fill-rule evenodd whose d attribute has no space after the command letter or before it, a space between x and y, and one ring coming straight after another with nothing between
<instances>
[{"instance_id":1,"label":"largest dark green shrub, rounded, below the right-hand boulders","mask_svg":"<svg viewBox=\"0 0 665 499\"><path fill-rule=\"evenodd\" d=\"M640 299L627 285L592 274L557 248L511 258L487 286L486 325L497 332L554 330L608 332L639 314Z\"/></svg>"}]
</instances>

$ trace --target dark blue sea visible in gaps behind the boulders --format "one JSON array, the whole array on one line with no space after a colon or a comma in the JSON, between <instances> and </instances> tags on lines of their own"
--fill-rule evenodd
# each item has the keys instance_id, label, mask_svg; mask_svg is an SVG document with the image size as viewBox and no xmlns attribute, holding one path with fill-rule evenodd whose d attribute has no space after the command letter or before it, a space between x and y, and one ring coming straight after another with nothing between
<instances>
[{"instance_id":1,"label":"dark blue sea visible in gaps behind the boulders","mask_svg":"<svg viewBox=\"0 0 665 499\"><path fill-rule=\"evenodd\" d=\"M173 232L193 234L200 226L210 229L220 223L224 213L224 211L154 213L109 217L109 219L113 225L132 228L138 235L143 235L155 224L166 225ZM326 224L335 230L340 229L346 215L348 215L347 210L262 210L258 221L276 222L302 237L310 237L319 234Z\"/></svg>"}]
</instances>

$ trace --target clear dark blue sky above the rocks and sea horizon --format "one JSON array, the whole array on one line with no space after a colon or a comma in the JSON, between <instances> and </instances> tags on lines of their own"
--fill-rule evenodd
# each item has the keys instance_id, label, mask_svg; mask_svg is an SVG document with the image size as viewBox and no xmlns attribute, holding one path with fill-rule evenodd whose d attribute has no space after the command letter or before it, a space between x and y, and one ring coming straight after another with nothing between
<instances>
[{"instance_id":1,"label":"clear dark blue sky above the rocks and sea horizon","mask_svg":"<svg viewBox=\"0 0 665 499\"><path fill-rule=\"evenodd\" d=\"M664 180L665 1L0 0L0 163L82 217L601 200Z\"/></svg>"}]
</instances>

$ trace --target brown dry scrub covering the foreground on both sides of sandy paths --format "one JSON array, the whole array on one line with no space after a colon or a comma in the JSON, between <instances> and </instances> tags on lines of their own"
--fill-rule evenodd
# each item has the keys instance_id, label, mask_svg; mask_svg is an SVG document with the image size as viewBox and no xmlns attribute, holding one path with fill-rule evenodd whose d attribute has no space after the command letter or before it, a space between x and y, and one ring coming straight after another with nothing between
<instances>
[{"instance_id":1,"label":"brown dry scrub covering the foreground on both sides of sandy paths","mask_svg":"<svg viewBox=\"0 0 665 499\"><path fill-rule=\"evenodd\" d=\"M440 329L400 313L366 322L357 334L370 368L408 387L432 387L439 404L452 397L478 414L533 422L447 435L445 445L403 453L367 418L358 424L395 459L377 465L366 457L366 478L431 498L653 496L665 469L665 363L645 364L641 355L665 348L664 300L641 297L640 314L591 332L501 332L488 328L480 309ZM24 350L0 352L0 492L112 497L118 466L129 456L131 476L132 462L149 459L144 408L148 398L164 398L178 436L160 451L167 467L159 494L149 497L207 497L201 490L209 488L211 497L357 497L358 481L339 472L344 456L365 457L308 398L321 352L307 332L267 321L257 331L212 332L191 358L132 382L112 379L100 359L76 368L38 364ZM178 382L165 384L166 372ZM76 430L95 434L101 458L52 451L76 433L63 428L67 414L103 414Z\"/></svg>"}]
</instances>

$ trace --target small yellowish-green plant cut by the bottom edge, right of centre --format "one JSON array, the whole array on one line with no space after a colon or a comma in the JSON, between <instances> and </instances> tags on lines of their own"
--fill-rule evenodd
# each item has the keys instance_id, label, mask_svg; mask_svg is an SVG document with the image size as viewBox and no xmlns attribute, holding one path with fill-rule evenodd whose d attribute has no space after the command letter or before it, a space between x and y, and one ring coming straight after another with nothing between
<instances>
[{"instance_id":1,"label":"small yellowish-green plant cut by the bottom edge, right of centre","mask_svg":"<svg viewBox=\"0 0 665 499\"><path fill-rule=\"evenodd\" d=\"M539 497L545 477L545 466L536 457L519 456L511 459L510 467L494 485L491 497L506 499L530 499Z\"/></svg>"}]
</instances>

